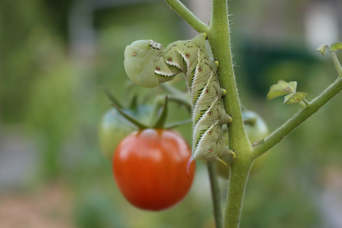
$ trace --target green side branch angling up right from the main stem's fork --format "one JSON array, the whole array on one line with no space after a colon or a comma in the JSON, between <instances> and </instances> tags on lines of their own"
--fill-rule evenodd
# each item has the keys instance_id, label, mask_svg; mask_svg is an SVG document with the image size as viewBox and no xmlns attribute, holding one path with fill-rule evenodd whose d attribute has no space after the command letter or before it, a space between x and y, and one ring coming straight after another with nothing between
<instances>
[{"instance_id":1,"label":"green side branch angling up right from the main stem's fork","mask_svg":"<svg viewBox=\"0 0 342 228\"><path fill-rule=\"evenodd\" d=\"M253 146L254 158L259 157L276 144L278 144L283 138L289 135L294 129L301 125L307 118L316 113L321 107L323 107L329 100L342 91L342 78L339 77L334 83L317 96L312 102L307 105L306 108L297 112L291 119L286 121L272 134L267 136L263 142L260 142Z\"/></svg>"}]
</instances>

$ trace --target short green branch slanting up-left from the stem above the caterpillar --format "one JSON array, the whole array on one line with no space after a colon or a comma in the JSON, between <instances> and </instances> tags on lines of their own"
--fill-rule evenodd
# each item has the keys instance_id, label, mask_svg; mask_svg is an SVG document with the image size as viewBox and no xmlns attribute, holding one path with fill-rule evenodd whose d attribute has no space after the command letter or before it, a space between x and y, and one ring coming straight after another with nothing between
<instances>
[{"instance_id":1,"label":"short green branch slanting up-left from the stem above the caterpillar","mask_svg":"<svg viewBox=\"0 0 342 228\"><path fill-rule=\"evenodd\" d=\"M207 31L208 26L201 22L185 5L179 0L165 0L169 4L171 9L176 11L191 27L196 31Z\"/></svg>"}]
</instances>

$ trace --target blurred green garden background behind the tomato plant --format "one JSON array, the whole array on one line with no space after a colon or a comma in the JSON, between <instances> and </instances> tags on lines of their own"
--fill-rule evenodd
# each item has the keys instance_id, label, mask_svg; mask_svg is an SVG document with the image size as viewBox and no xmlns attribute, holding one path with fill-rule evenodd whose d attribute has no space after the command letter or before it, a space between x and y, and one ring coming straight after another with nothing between
<instances>
[{"instance_id":1,"label":"blurred green garden background behind the tomato plant","mask_svg":"<svg viewBox=\"0 0 342 228\"><path fill-rule=\"evenodd\" d=\"M210 20L209 0L183 3ZM299 109L282 98L267 102L272 84L297 81L310 101L337 78L329 54L315 49L342 40L342 1L232 0L229 14L241 104L270 131ZM179 205L141 211L119 193L97 137L110 109L99 86L129 103L126 45L166 46L197 34L161 0L1 0L0 227L214 228L201 161ZM174 85L185 89L183 79ZM134 90L139 104L152 104L146 90ZM341 103L339 94L269 151L249 179L242 228L342 227ZM170 109L169 121L189 117ZM189 129L177 128L190 142Z\"/></svg>"}]
</instances>

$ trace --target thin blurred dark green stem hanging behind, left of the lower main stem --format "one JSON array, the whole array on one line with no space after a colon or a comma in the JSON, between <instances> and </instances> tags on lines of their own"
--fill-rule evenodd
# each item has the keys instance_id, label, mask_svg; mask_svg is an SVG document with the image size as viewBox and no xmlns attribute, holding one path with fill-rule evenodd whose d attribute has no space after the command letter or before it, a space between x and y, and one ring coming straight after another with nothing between
<instances>
[{"instance_id":1,"label":"thin blurred dark green stem hanging behind, left of the lower main stem","mask_svg":"<svg viewBox=\"0 0 342 228\"><path fill-rule=\"evenodd\" d=\"M216 174L216 163L208 161L208 173L211 186L211 196L214 205L214 218L216 228L222 228L222 206L221 206L221 194L219 187L219 180Z\"/></svg>"}]
</instances>

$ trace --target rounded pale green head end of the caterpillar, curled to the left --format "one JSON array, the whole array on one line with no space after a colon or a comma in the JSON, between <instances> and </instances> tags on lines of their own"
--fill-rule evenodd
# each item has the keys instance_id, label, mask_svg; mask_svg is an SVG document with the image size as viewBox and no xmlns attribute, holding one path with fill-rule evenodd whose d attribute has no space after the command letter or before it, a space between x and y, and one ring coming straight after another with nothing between
<instances>
[{"instance_id":1,"label":"rounded pale green head end of the caterpillar, curled to the left","mask_svg":"<svg viewBox=\"0 0 342 228\"><path fill-rule=\"evenodd\" d=\"M128 45L123 62L127 76L145 88L173 79L180 70L165 63L162 49L162 45L153 40L138 40Z\"/></svg>"}]
</instances>

